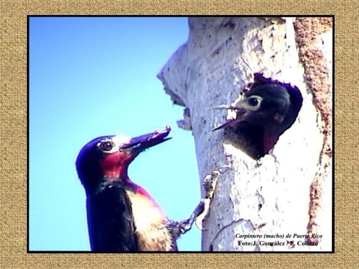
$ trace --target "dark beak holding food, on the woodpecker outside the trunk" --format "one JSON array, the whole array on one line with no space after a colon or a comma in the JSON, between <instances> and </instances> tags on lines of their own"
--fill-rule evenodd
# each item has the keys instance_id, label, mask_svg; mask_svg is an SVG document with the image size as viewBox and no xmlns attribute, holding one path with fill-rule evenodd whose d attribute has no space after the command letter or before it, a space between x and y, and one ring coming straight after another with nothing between
<instances>
[{"instance_id":1,"label":"dark beak holding food, on the woodpecker outside the trunk","mask_svg":"<svg viewBox=\"0 0 359 269\"><path fill-rule=\"evenodd\" d=\"M140 137L133 137L128 143L123 144L121 149L127 149L131 152L142 152L145 149L171 139L171 137L167 137L170 132L170 126L166 126L163 131L155 131L147 135L141 135Z\"/></svg>"}]
</instances>

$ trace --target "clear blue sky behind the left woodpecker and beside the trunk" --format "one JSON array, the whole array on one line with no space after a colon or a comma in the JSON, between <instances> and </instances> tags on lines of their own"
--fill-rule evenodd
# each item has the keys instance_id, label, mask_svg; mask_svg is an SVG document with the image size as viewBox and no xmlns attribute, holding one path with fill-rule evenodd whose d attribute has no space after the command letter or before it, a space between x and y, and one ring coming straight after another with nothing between
<instances>
[{"instance_id":1,"label":"clear blue sky behind the left woodpecker and beside the trunk","mask_svg":"<svg viewBox=\"0 0 359 269\"><path fill-rule=\"evenodd\" d=\"M140 154L129 176L169 218L200 199L192 133L177 127L156 75L187 41L185 17L31 17L29 20L29 250L90 250L85 192L75 161L95 137L172 127L173 139ZM200 250L194 226L177 242Z\"/></svg>"}]
</instances>

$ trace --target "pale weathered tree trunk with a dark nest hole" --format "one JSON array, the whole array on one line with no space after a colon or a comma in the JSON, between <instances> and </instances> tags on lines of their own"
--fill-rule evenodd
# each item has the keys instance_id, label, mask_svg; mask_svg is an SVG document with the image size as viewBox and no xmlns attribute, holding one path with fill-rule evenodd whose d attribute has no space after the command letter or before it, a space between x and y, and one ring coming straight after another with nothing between
<instances>
[{"instance_id":1,"label":"pale weathered tree trunk with a dark nest hole","mask_svg":"<svg viewBox=\"0 0 359 269\"><path fill-rule=\"evenodd\" d=\"M187 43L158 77L172 102L185 107L179 125L192 130L200 181L221 165L231 166L219 176L202 250L332 250L331 23L189 19ZM296 85L303 96L296 122L259 160L224 139L223 130L212 132L229 112L209 110L234 102L254 73Z\"/></svg>"}]
</instances>

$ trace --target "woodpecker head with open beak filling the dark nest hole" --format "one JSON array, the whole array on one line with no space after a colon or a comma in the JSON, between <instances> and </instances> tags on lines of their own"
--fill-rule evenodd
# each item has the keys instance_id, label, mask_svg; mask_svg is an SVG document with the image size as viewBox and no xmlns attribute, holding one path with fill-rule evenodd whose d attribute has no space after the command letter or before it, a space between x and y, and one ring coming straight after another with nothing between
<instances>
[{"instance_id":1,"label":"woodpecker head with open beak filling the dark nest hole","mask_svg":"<svg viewBox=\"0 0 359 269\"><path fill-rule=\"evenodd\" d=\"M257 158L274 147L279 136L287 130L298 116L303 97L295 86L278 80L254 74L255 83L244 93L244 97L233 105L217 107L234 110L236 117L224 122L214 130L229 127L232 132L241 134L254 144Z\"/></svg>"}]
</instances>

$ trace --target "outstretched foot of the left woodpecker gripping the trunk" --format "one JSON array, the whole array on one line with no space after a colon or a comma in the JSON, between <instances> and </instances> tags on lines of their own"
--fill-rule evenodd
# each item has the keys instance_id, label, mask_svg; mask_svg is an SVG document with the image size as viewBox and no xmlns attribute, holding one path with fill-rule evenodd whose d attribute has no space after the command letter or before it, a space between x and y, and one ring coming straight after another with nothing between
<instances>
[{"instance_id":1,"label":"outstretched foot of the left woodpecker gripping the trunk","mask_svg":"<svg viewBox=\"0 0 359 269\"><path fill-rule=\"evenodd\" d=\"M212 198L214 196L214 191L217 186L217 179L220 174L227 172L229 165L223 165L213 170L211 174L207 174L203 180L203 187L205 192L204 198L201 199L196 209L189 218L184 221L170 221L170 231L175 239L179 238L182 234L187 233L192 228L193 223L196 223L199 230L204 230L202 222L209 214L209 205L211 204Z\"/></svg>"}]
</instances>

